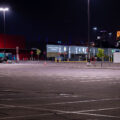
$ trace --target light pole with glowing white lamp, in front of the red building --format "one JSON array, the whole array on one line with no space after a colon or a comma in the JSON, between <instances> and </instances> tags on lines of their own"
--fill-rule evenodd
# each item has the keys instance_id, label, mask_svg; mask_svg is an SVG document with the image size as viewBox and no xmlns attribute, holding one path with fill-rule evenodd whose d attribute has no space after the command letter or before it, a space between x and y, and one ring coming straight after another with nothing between
<instances>
[{"instance_id":1,"label":"light pole with glowing white lamp, in front of the red building","mask_svg":"<svg viewBox=\"0 0 120 120\"><path fill-rule=\"evenodd\" d=\"M5 48L6 48L6 40L5 40L5 13L9 11L8 7L0 7L0 12L3 12L3 20L4 20L4 57L5 55Z\"/></svg>"}]
</instances>

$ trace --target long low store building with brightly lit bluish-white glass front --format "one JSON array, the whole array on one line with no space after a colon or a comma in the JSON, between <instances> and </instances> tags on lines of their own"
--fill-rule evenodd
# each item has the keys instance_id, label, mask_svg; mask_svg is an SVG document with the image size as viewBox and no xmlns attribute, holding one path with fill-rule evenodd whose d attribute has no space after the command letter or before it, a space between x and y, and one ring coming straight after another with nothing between
<instances>
[{"instance_id":1,"label":"long low store building with brightly lit bluish-white glass front","mask_svg":"<svg viewBox=\"0 0 120 120\"><path fill-rule=\"evenodd\" d=\"M120 49L116 48L102 48L106 60L112 58L114 52L120 52ZM86 46L64 46L64 45L47 45L47 58L50 60L61 59L71 61L83 61L86 60L88 54L88 47ZM96 57L98 48L90 47L90 56Z\"/></svg>"}]
</instances>

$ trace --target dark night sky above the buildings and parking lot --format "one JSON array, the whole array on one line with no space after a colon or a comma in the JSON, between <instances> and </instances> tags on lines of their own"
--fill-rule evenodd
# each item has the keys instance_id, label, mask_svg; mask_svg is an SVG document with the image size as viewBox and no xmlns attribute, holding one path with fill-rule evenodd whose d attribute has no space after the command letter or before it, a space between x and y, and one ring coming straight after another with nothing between
<instances>
[{"instance_id":1,"label":"dark night sky above the buildings and parking lot","mask_svg":"<svg viewBox=\"0 0 120 120\"><path fill-rule=\"evenodd\" d=\"M91 35L93 26L115 34L120 29L120 0L90 2ZM10 7L6 13L6 33L24 35L29 44L87 41L87 0L0 0L0 3ZM2 13L0 28L3 33Z\"/></svg>"}]
</instances>

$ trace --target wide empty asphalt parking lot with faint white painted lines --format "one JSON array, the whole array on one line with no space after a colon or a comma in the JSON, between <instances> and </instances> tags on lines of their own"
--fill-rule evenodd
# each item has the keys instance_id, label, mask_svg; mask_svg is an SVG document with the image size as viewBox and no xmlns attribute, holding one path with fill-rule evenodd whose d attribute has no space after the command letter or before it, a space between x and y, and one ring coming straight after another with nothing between
<instances>
[{"instance_id":1,"label":"wide empty asphalt parking lot with faint white painted lines","mask_svg":"<svg viewBox=\"0 0 120 120\"><path fill-rule=\"evenodd\" d=\"M21 119L120 120L120 65L0 64L0 120Z\"/></svg>"}]
</instances>

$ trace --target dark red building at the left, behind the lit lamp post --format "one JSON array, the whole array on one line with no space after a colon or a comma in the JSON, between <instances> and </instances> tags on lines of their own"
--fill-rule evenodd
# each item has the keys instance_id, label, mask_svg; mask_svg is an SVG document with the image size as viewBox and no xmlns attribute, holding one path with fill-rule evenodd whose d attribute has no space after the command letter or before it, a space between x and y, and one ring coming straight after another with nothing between
<instances>
[{"instance_id":1,"label":"dark red building at the left, behind the lit lamp post","mask_svg":"<svg viewBox=\"0 0 120 120\"><path fill-rule=\"evenodd\" d=\"M0 57L5 54L9 59L15 59L17 47L19 59L28 59L30 50L26 49L25 42L24 36L0 34Z\"/></svg>"}]
</instances>

